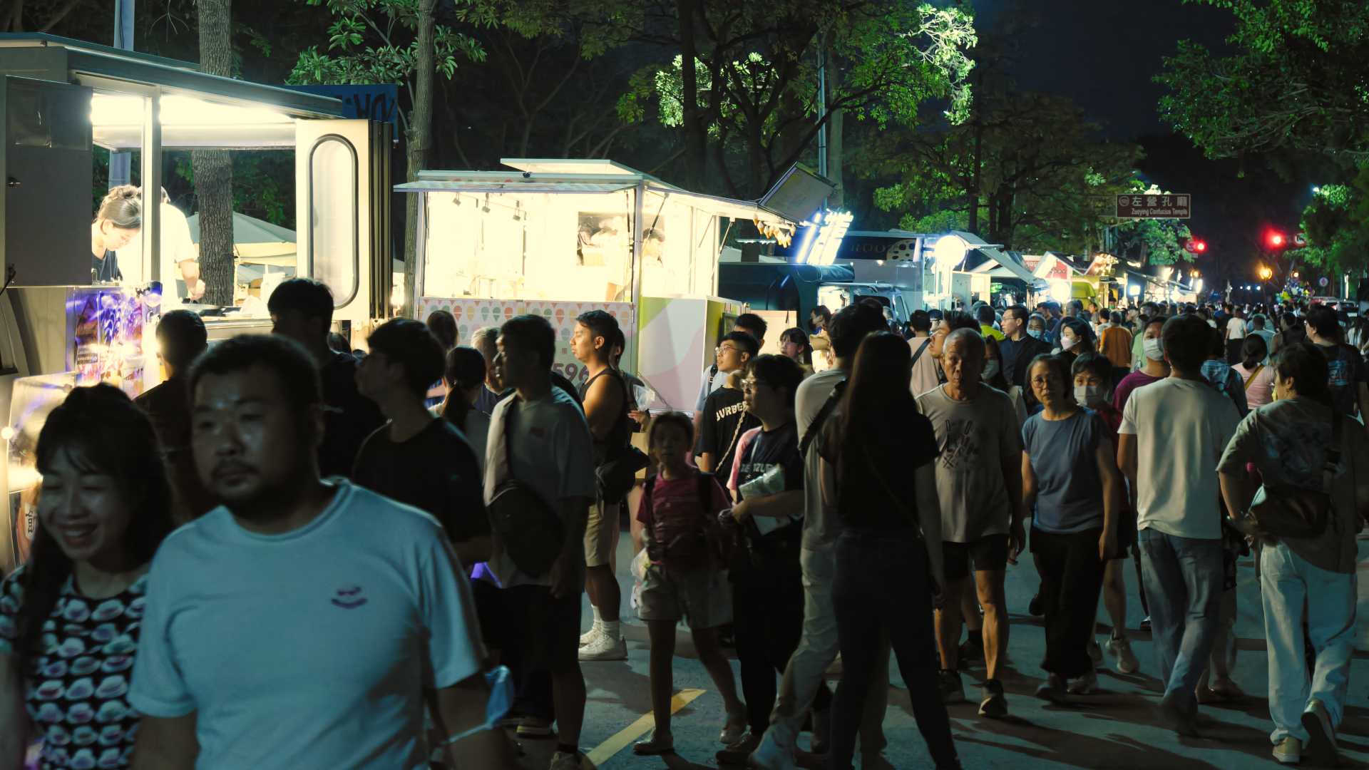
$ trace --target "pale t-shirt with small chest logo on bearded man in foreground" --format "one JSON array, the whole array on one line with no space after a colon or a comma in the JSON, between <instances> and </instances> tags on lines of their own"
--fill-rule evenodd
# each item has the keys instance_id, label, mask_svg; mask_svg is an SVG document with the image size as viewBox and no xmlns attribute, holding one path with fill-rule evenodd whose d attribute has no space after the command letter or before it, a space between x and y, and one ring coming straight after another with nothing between
<instances>
[{"instance_id":1,"label":"pale t-shirt with small chest logo on bearded man in foreground","mask_svg":"<svg viewBox=\"0 0 1369 770\"><path fill-rule=\"evenodd\" d=\"M423 691L481 671L442 526L335 484L294 532L256 534L219 507L152 560L129 700L196 712L196 767L426 769Z\"/></svg>"}]
</instances>

